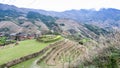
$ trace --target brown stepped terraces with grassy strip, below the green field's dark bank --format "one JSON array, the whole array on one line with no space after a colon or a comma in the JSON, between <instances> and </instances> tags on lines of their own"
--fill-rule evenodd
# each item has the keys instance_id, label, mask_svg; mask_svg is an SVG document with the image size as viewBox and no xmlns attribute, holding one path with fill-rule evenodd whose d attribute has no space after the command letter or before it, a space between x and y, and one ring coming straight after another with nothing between
<instances>
[{"instance_id":1,"label":"brown stepped terraces with grassy strip, below the green field's dark bank","mask_svg":"<svg viewBox=\"0 0 120 68\"><path fill-rule=\"evenodd\" d=\"M62 40L51 44L43 55L17 64L11 68L62 68L68 67L76 58L84 53L85 48L70 40ZM27 64L27 65L24 65Z\"/></svg>"}]
</instances>

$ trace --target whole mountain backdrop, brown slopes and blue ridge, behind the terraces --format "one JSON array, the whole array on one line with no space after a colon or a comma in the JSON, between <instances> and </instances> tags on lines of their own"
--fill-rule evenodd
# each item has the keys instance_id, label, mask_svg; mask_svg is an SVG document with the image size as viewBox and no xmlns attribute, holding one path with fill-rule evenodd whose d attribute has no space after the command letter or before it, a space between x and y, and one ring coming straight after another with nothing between
<instances>
[{"instance_id":1,"label":"whole mountain backdrop, brown slopes and blue ridge, behind the terraces","mask_svg":"<svg viewBox=\"0 0 120 68\"><path fill-rule=\"evenodd\" d=\"M10 33L52 31L65 35L96 37L120 28L120 10L103 8L99 11L81 9L55 12L0 4L0 24L0 31Z\"/></svg>"}]
</instances>

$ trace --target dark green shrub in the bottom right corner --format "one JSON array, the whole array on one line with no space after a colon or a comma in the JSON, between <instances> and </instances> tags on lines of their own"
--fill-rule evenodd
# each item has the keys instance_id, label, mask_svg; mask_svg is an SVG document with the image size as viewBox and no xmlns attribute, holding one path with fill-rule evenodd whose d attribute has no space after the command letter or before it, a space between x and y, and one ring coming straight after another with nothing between
<instances>
[{"instance_id":1,"label":"dark green shrub in the bottom right corner","mask_svg":"<svg viewBox=\"0 0 120 68\"><path fill-rule=\"evenodd\" d=\"M111 48L111 54L98 56L93 60L93 64L99 68L119 68L120 50Z\"/></svg>"}]
</instances>

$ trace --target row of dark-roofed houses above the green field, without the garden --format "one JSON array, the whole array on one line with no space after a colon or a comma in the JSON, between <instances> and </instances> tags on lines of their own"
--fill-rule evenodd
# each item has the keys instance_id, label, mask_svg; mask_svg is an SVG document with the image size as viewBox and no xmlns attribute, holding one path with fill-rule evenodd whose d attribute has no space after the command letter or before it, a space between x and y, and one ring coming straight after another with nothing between
<instances>
[{"instance_id":1,"label":"row of dark-roofed houses above the green field, without the garden","mask_svg":"<svg viewBox=\"0 0 120 68\"><path fill-rule=\"evenodd\" d=\"M34 39L39 37L41 34L26 34L26 33L5 33L5 32L0 32L0 37L7 37L7 40L17 40L17 41L22 41L26 39Z\"/></svg>"}]
</instances>

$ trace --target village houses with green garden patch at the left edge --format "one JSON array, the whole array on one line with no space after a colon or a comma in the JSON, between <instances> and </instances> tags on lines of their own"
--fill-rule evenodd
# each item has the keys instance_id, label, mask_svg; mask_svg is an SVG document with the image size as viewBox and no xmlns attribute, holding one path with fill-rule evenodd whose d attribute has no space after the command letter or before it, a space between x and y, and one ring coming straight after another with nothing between
<instances>
[{"instance_id":1,"label":"village houses with green garden patch at the left edge","mask_svg":"<svg viewBox=\"0 0 120 68\"><path fill-rule=\"evenodd\" d=\"M23 41L27 39L36 39L37 37L40 37L39 34L26 34L23 32L20 33L5 33L0 32L0 46L5 46L11 43L17 43L18 41Z\"/></svg>"}]
</instances>

